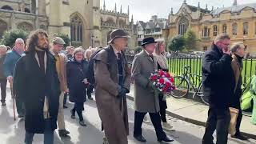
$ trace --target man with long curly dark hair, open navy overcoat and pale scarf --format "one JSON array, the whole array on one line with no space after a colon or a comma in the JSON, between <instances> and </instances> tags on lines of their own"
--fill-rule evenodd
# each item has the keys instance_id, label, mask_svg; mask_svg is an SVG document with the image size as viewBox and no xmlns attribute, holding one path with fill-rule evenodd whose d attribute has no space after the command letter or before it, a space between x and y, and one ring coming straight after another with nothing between
<instances>
[{"instance_id":1,"label":"man with long curly dark hair, open navy overcoat and pale scarf","mask_svg":"<svg viewBox=\"0 0 256 144\"><path fill-rule=\"evenodd\" d=\"M55 58L46 31L33 31L27 42L26 55L14 70L14 93L26 107L25 143L32 144L34 134L44 134L44 144L53 144L61 94Z\"/></svg>"}]
</instances>

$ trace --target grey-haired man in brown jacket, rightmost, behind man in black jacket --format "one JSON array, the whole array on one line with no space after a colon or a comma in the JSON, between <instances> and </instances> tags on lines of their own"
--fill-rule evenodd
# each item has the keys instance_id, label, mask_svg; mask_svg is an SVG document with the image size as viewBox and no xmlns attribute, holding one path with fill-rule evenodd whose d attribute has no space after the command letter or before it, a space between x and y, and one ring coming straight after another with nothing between
<instances>
[{"instance_id":1,"label":"grey-haired man in brown jacket, rightmost, behind man in black jacket","mask_svg":"<svg viewBox=\"0 0 256 144\"><path fill-rule=\"evenodd\" d=\"M232 52L232 62L231 66L234 71L234 78L235 78L235 86L234 86L234 96L231 99L231 107L234 107L239 110L237 124L236 124L236 133L231 135L232 138L238 138L241 140L247 140L245 136L240 133L240 125L242 121L242 109L240 98L242 96L242 58L246 55L246 46L243 42L235 42L231 46Z\"/></svg>"}]
</instances>

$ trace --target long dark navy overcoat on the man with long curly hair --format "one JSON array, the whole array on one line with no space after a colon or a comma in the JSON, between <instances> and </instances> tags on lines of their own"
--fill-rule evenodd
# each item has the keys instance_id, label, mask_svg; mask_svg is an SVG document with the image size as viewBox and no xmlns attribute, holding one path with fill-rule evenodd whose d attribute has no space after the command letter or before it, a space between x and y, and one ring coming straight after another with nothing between
<instances>
[{"instance_id":1,"label":"long dark navy overcoat on the man with long curly hair","mask_svg":"<svg viewBox=\"0 0 256 144\"><path fill-rule=\"evenodd\" d=\"M45 97L49 102L51 128L57 128L60 83L54 56L49 51L46 51L46 56L46 72L40 69L32 51L26 52L14 69L14 91L26 107L25 129L35 134L42 134L45 129Z\"/></svg>"}]
</instances>

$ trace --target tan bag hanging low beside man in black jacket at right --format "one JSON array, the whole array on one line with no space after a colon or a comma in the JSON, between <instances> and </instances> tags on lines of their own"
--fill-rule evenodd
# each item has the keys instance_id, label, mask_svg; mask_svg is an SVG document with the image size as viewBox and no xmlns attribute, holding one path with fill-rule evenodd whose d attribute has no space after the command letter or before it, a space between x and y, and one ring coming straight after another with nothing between
<instances>
[{"instance_id":1,"label":"tan bag hanging low beside man in black jacket at right","mask_svg":"<svg viewBox=\"0 0 256 144\"><path fill-rule=\"evenodd\" d=\"M229 134L234 135L236 133L236 125L238 119L239 110L233 107L230 107L230 127Z\"/></svg>"}]
</instances>

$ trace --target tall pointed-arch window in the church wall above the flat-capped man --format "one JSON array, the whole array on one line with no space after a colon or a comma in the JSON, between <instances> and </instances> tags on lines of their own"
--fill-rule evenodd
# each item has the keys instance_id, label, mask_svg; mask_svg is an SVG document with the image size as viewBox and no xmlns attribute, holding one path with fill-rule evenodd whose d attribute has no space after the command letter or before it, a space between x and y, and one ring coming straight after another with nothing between
<instances>
[{"instance_id":1,"label":"tall pointed-arch window in the church wall above the flat-capped man","mask_svg":"<svg viewBox=\"0 0 256 144\"><path fill-rule=\"evenodd\" d=\"M82 19L78 15L71 18L70 34L72 42L82 42Z\"/></svg>"}]
</instances>

